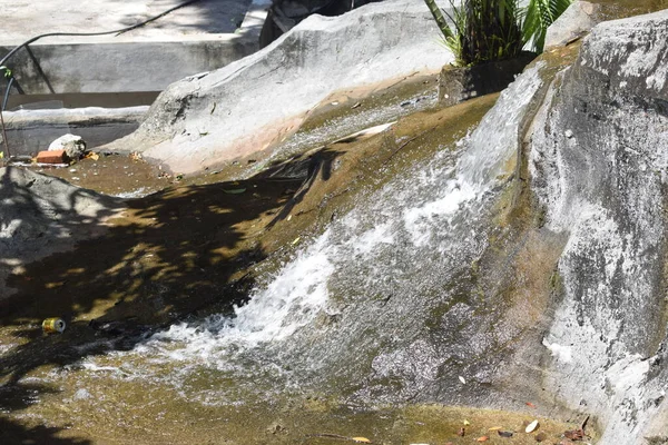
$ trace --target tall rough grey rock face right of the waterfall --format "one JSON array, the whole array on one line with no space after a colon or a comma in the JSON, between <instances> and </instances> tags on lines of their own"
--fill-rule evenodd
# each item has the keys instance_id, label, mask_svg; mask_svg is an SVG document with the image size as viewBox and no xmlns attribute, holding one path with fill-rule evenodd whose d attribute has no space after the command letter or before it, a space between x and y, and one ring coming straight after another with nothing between
<instances>
[{"instance_id":1,"label":"tall rough grey rock face right of the waterfall","mask_svg":"<svg viewBox=\"0 0 668 445\"><path fill-rule=\"evenodd\" d=\"M536 128L533 190L568 234L544 387L601 444L668 431L668 10L597 26Z\"/></svg>"}]
</instances>

